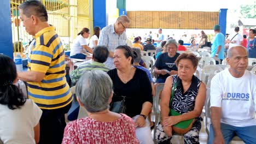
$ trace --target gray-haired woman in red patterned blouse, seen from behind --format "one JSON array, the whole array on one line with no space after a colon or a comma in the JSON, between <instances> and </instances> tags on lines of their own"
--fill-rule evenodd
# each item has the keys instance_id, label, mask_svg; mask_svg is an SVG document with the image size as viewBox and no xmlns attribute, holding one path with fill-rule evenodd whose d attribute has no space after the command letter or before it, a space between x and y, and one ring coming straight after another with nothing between
<instances>
[{"instance_id":1,"label":"gray-haired woman in red patterned blouse, seen from behind","mask_svg":"<svg viewBox=\"0 0 256 144\"><path fill-rule=\"evenodd\" d=\"M88 117L69 122L62 143L139 143L132 119L109 111L112 86L104 71L85 71L75 91Z\"/></svg>"}]
</instances>

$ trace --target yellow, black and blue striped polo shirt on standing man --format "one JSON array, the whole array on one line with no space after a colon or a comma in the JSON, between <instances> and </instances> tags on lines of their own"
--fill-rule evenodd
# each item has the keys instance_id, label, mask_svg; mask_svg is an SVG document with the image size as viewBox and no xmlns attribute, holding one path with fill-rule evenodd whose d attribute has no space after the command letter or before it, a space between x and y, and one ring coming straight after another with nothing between
<instances>
[{"instance_id":1,"label":"yellow, black and blue striped polo shirt on standing man","mask_svg":"<svg viewBox=\"0 0 256 144\"><path fill-rule=\"evenodd\" d=\"M54 27L46 27L36 35L36 44L28 58L28 71L45 73L40 82L27 82L28 98L40 109L59 109L72 102L66 81L65 54Z\"/></svg>"}]
</instances>

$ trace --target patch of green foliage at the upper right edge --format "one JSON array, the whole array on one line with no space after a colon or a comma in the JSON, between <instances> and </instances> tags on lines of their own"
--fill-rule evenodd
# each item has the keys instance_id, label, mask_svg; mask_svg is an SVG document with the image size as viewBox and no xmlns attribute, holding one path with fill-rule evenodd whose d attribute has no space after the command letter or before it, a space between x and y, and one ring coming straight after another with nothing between
<instances>
[{"instance_id":1,"label":"patch of green foliage at the upper right edge","mask_svg":"<svg viewBox=\"0 0 256 144\"><path fill-rule=\"evenodd\" d=\"M241 5L240 14L243 18L252 18L256 19L256 4L251 5Z\"/></svg>"}]
</instances>

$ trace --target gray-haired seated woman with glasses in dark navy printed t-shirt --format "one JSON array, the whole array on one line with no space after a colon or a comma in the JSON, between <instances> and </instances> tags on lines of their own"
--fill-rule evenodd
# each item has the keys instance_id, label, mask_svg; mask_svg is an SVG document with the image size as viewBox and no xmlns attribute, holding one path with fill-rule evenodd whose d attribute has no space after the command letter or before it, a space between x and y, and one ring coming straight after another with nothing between
<instances>
[{"instance_id":1,"label":"gray-haired seated woman with glasses in dark navy printed t-shirt","mask_svg":"<svg viewBox=\"0 0 256 144\"><path fill-rule=\"evenodd\" d=\"M155 74L159 75L155 81L155 85L157 83L164 83L168 76L178 73L174 63L179 56L179 53L177 53L178 43L174 39L169 39L165 47L167 52L162 53L155 62Z\"/></svg>"}]
</instances>

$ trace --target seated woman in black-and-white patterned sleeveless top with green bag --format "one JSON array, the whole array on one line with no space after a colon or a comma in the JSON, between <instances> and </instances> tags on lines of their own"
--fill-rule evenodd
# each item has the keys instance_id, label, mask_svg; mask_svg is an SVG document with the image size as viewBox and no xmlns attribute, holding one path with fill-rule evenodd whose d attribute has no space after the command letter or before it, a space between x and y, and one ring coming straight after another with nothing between
<instances>
[{"instance_id":1,"label":"seated woman in black-and-white patterned sleeveless top with green bag","mask_svg":"<svg viewBox=\"0 0 256 144\"><path fill-rule=\"evenodd\" d=\"M169 76L162 91L161 122L156 128L156 141L170 143L174 131L184 134L184 143L199 143L206 86L194 76L198 59L193 53L182 53L175 63L178 75Z\"/></svg>"}]
</instances>

